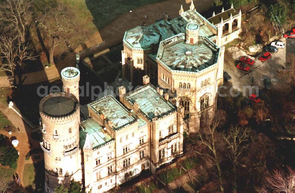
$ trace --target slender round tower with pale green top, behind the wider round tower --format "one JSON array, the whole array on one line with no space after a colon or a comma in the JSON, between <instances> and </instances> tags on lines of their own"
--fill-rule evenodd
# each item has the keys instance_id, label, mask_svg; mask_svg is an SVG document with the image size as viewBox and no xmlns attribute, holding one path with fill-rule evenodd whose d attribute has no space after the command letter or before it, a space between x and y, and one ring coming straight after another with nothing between
<instances>
[{"instance_id":1,"label":"slender round tower with pale green top, behind the wider round tower","mask_svg":"<svg viewBox=\"0 0 295 193\"><path fill-rule=\"evenodd\" d=\"M79 101L80 71L75 67L66 67L60 74L63 81L63 91L73 94Z\"/></svg>"}]
</instances>

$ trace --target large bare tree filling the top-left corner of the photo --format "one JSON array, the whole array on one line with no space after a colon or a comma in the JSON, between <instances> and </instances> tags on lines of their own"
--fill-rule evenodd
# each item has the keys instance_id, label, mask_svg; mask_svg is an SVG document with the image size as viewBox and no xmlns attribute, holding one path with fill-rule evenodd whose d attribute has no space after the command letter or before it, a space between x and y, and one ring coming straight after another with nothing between
<instances>
[{"instance_id":1,"label":"large bare tree filling the top-left corner of the photo","mask_svg":"<svg viewBox=\"0 0 295 193\"><path fill-rule=\"evenodd\" d=\"M21 42L25 38L32 22L31 0L5 0L0 5L0 21L9 33L14 31Z\"/></svg>"}]
</instances>

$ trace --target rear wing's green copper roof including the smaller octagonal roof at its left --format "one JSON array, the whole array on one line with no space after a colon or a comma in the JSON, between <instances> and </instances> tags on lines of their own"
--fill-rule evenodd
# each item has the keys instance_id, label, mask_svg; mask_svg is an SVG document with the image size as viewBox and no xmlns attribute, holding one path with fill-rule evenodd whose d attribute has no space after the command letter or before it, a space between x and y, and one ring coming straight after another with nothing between
<instances>
[{"instance_id":1,"label":"rear wing's green copper roof including the smaller octagonal roof at its left","mask_svg":"<svg viewBox=\"0 0 295 193\"><path fill-rule=\"evenodd\" d=\"M207 25L204 24L204 21L207 23ZM159 34L160 40L162 41L177 34L185 33L186 25L188 23L196 23L199 25L200 36L207 36L209 38L215 36L208 26L217 31L216 27L203 16L201 16L201 14L193 10L188 10L185 11L181 16L178 16L169 21L160 20L147 27L137 26L133 29L130 29L125 32L123 42L131 49L151 49L151 42L153 42L153 44L159 44L159 42L155 43L158 39L158 36L155 34ZM150 41L143 40L145 37L148 37Z\"/></svg>"}]
</instances>

